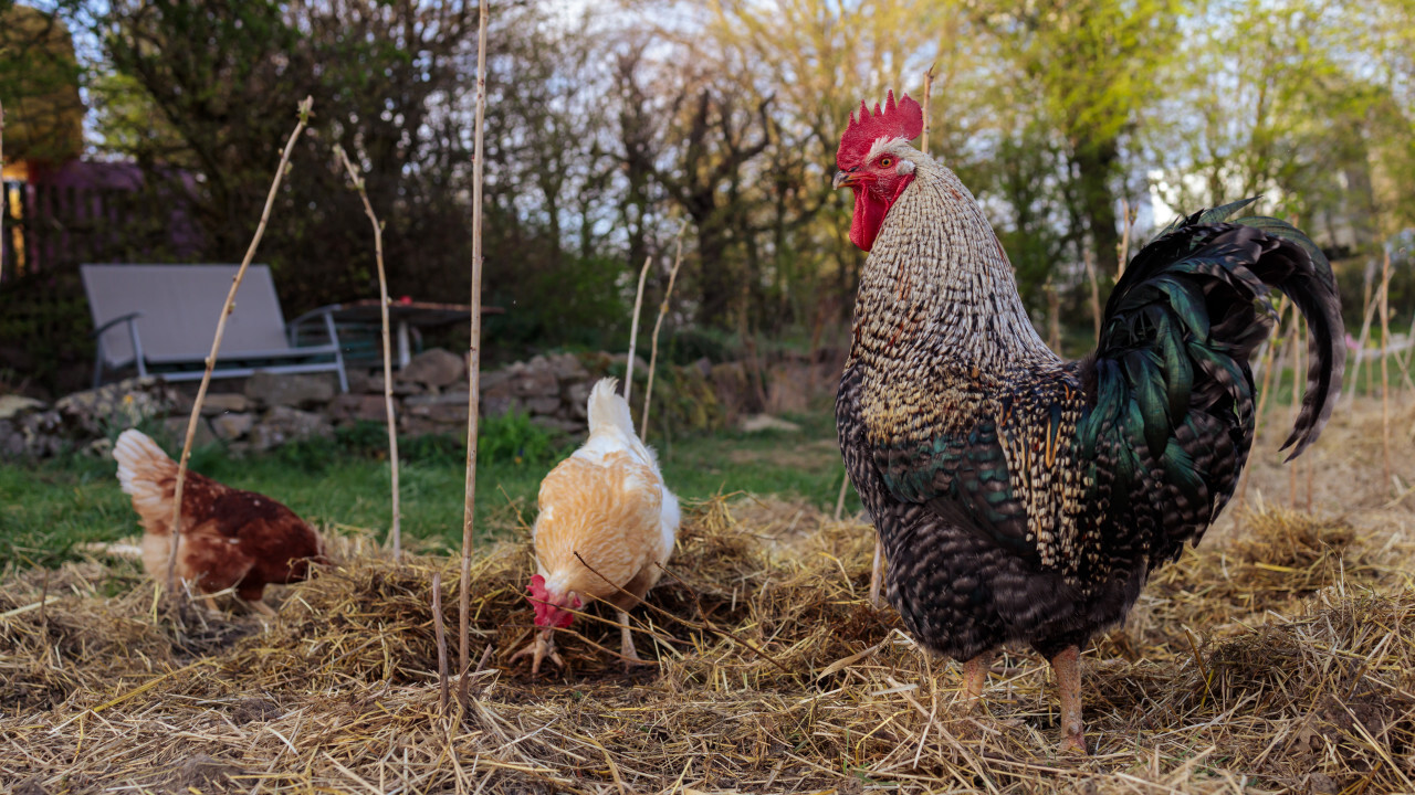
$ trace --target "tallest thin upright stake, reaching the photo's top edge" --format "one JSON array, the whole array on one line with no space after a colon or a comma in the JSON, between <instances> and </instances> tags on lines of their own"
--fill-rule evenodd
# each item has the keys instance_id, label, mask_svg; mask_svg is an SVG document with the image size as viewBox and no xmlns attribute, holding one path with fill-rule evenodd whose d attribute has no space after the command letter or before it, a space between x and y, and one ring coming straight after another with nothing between
<instances>
[{"instance_id":1,"label":"tallest thin upright stake, reaching the photo's top edge","mask_svg":"<svg viewBox=\"0 0 1415 795\"><path fill-rule=\"evenodd\" d=\"M483 146L483 123L487 116L487 0L477 3L477 119L474 122L475 149L471 170L471 340L467 347L467 485L461 512L461 583L458 597L458 666L466 686L471 668L471 549L473 516L477 509L477 412L481 389L481 180L487 150Z\"/></svg>"}]
</instances>

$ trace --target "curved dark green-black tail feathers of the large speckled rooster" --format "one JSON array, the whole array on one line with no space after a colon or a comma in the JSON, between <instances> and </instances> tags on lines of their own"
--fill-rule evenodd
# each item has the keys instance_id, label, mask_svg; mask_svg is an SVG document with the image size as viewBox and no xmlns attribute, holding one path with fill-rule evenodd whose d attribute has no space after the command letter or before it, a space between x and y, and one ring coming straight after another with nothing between
<instances>
[{"instance_id":1,"label":"curved dark green-black tail feathers of the large speckled rooster","mask_svg":"<svg viewBox=\"0 0 1415 795\"><path fill-rule=\"evenodd\" d=\"M1247 407L1251 395L1240 395L1240 390L1251 392L1251 385L1240 383L1247 379L1238 376L1247 371L1252 351L1272 330L1276 313L1268 294L1272 289L1282 291L1302 311L1310 330L1307 349L1312 364L1306 395L1292 434L1282 444L1283 450L1292 447L1290 461L1316 441L1341 390L1346 368L1341 301L1332 265L1299 229L1265 216L1224 222L1254 201L1244 199L1183 218L1135 255L1107 304L1105 328L1097 352L1122 359L1129 368L1138 331L1135 324L1142 315L1146 321L1160 320L1153 303L1156 297L1163 297L1182 327L1176 330L1180 334L1166 334L1173 344L1160 351L1165 364L1177 364L1169 355L1177 351L1167 348L1179 348L1179 338L1187 338L1189 354L1200 371L1193 375L1217 382ZM1264 311L1259 314L1255 306ZM1203 338L1207 344L1194 344ZM1237 372L1231 366L1235 364L1241 366ZM1174 386L1173 378L1170 386ZM1200 389L1197 383L1193 386ZM1172 410L1177 409L1173 405L1176 398L1172 390ZM1180 402L1187 402L1187 398Z\"/></svg>"}]
</instances>

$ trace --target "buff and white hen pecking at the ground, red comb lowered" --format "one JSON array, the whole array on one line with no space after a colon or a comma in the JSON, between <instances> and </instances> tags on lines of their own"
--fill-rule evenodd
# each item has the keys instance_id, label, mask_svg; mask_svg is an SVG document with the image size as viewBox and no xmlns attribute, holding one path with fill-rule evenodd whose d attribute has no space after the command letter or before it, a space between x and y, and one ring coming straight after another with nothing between
<instances>
[{"instance_id":1,"label":"buff and white hen pecking at the ground, red comb lowered","mask_svg":"<svg viewBox=\"0 0 1415 795\"><path fill-rule=\"evenodd\" d=\"M590 437L541 482L541 513L532 536L536 574L531 604L536 634L512 661L532 655L532 676L555 651L555 629L567 628L590 600L618 611L620 656L625 668L642 662L634 651L628 610L658 583L678 535L678 498L668 491L658 458L634 434L628 402L613 378L594 385L589 399Z\"/></svg>"}]
</instances>

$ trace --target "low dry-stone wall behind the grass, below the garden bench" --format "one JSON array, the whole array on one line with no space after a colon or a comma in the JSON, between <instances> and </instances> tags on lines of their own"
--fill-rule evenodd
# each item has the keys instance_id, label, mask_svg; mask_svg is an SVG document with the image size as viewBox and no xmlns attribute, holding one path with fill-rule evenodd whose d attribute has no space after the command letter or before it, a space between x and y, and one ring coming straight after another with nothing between
<instances>
[{"instance_id":1,"label":"low dry-stone wall behind the grass, below the garden bench","mask_svg":"<svg viewBox=\"0 0 1415 795\"><path fill-rule=\"evenodd\" d=\"M586 431L586 400L594 382L621 375L627 356L548 354L481 375L483 416L508 412L558 433ZM642 396L647 366L635 364L635 398ZM662 368L654 385L654 419L675 427L713 429L768 410L799 412L839 378L833 361L792 361L751 368L744 362L696 362ZM273 375L216 381L202 403L195 444L222 441L235 454L265 451L299 439L330 437L357 422L385 422L382 369L351 369L350 390L340 393L333 373ZM194 383L129 379L69 395L52 406L0 395L0 457L47 457L62 450L106 453L110 436L144 419L163 423L181 440L191 413ZM434 348L393 373L393 399L402 436L464 434L467 365L457 354ZM635 422L641 403L635 400Z\"/></svg>"}]
</instances>

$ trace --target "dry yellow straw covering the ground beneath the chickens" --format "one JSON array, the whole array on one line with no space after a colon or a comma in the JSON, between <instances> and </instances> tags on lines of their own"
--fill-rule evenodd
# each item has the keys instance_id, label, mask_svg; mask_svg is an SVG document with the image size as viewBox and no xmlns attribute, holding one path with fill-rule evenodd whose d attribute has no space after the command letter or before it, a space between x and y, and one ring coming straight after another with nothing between
<instances>
[{"instance_id":1,"label":"dry yellow straw covering the ground beneath the chickens","mask_svg":"<svg viewBox=\"0 0 1415 795\"><path fill-rule=\"evenodd\" d=\"M471 573L471 658L439 709L430 587L456 663L456 564L361 538L280 594L279 621L183 622L122 560L0 586L0 782L40 792L1395 792L1415 791L1409 513L1249 499L1153 579L1087 655L1090 758L1058 757L1034 656L999 658L981 712L959 672L865 597L857 519L750 497L688 512L633 614L559 638L569 671L507 668L529 641L522 542ZM47 600L41 608L35 607Z\"/></svg>"}]
</instances>

